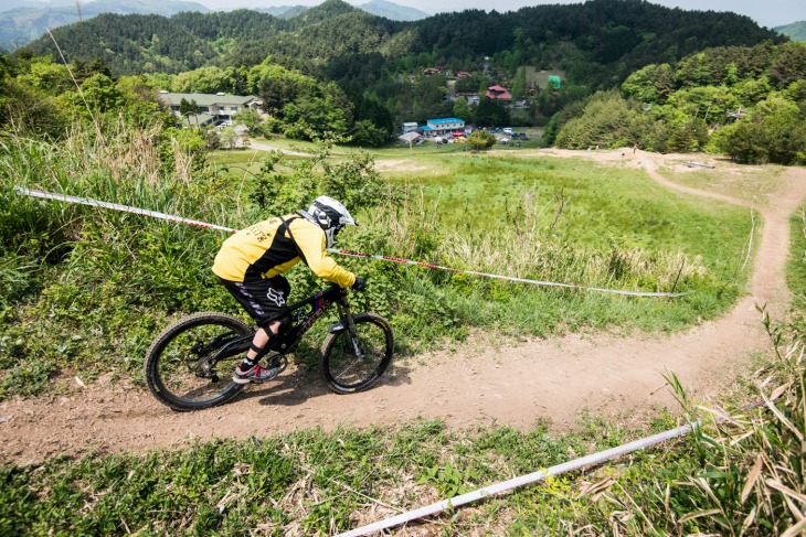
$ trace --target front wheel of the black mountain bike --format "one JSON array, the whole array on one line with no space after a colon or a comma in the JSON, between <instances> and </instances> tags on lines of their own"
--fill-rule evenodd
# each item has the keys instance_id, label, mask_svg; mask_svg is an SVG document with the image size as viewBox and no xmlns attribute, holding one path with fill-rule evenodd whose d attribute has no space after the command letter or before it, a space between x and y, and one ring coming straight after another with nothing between
<instances>
[{"instance_id":1,"label":"front wheel of the black mountain bike","mask_svg":"<svg viewBox=\"0 0 806 537\"><path fill-rule=\"evenodd\" d=\"M392 362L394 336L385 319L373 313L353 318L356 337L344 329L322 343L320 366L328 387L352 394L372 386Z\"/></svg>"}]
</instances>

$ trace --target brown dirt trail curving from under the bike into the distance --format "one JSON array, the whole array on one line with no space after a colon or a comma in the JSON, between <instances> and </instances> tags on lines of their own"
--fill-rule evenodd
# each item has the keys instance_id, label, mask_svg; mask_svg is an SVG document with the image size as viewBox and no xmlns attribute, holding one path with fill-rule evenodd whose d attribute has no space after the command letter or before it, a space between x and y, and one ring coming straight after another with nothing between
<instances>
[{"instance_id":1,"label":"brown dirt trail curving from under the bike into the distance","mask_svg":"<svg viewBox=\"0 0 806 537\"><path fill-rule=\"evenodd\" d=\"M542 152L603 161L618 161L621 154L582 153ZM638 152L628 158L669 189L749 205L667 181L656 171L664 157ZM788 169L783 184L757 207L763 227L759 230L762 222L756 219L756 233L762 235L750 296L722 319L685 333L575 334L499 347L471 341L453 354L422 356L410 366L396 364L384 385L350 396L333 395L289 367L277 382L252 386L224 407L192 414L172 412L140 388L102 379L64 396L0 404L0 460L141 451L181 447L188 439L396 423L417 417L441 418L455 427L476 422L528 427L540 419L564 427L585 409L629 420L656 407L676 408L665 387L665 372L674 372L693 397L707 397L746 368L743 364L751 353L768 350L755 304L767 303L777 312L786 307L787 218L806 196L806 169Z\"/></svg>"}]
</instances>

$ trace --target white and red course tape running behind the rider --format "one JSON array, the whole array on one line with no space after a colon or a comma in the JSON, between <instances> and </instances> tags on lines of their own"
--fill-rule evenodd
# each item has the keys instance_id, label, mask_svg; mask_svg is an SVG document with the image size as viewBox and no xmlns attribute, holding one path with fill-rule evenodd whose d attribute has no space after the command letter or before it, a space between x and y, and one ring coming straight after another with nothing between
<instances>
[{"instance_id":1,"label":"white and red course tape running behind the rider","mask_svg":"<svg viewBox=\"0 0 806 537\"><path fill-rule=\"evenodd\" d=\"M229 232L229 233L235 233L237 230L232 227L218 226L215 224L208 224L206 222L200 222L200 221L194 221L194 219L190 219L190 218L182 218L181 216L159 213L157 211L148 211L145 208L131 207L128 205L120 205L119 203L102 202L98 200L93 200L91 197L68 196L66 194L57 194L57 193L53 193L53 192L23 189L21 186L14 186L14 190L22 194L25 194L28 196L41 197L43 200L55 200L55 201L66 202L66 203L89 205L93 207L112 208L114 211L123 211L125 213L151 216L153 218L160 218L160 219L163 219L167 222L177 222L180 224L188 224L191 226L204 227L208 229L219 229L219 230ZM397 264L402 264L402 265L413 265L416 267L425 267L425 268L436 269L436 270L446 270L448 272L457 272L457 273L464 273L464 275L470 275L470 276L481 276L485 278L494 278L494 279L498 279L498 280L518 281L521 283L530 283L533 286L580 289L580 290L584 290L584 291L606 292L606 293L612 293L612 294L624 294L624 296L628 296L628 297L683 297L686 294L689 294L689 292L672 293L672 292L649 292L649 291L624 291L621 289L603 289L603 288L597 288L597 287L584 287L584 286L576 286L573 283L558 283L554 281L530 280L527 278L516 278L513 276L491 275L491 273L487 273L487 272L478 272L476 270L465 270L465 269L457 269L457 268L450 268L450 267L443 267L443 266L434 265L434 264L429 264L429 262L403 259L400 257L379 256L379 255L374 255L374 254L361 254L359 251L339 250L339 249L335 249L335 248L328 248L328 251L330 251L332 254L339 254L342 256L361 257L361 258L365 258L365 259L379 259L381 261L397 262Z\"/></svg>"}]
</instances>

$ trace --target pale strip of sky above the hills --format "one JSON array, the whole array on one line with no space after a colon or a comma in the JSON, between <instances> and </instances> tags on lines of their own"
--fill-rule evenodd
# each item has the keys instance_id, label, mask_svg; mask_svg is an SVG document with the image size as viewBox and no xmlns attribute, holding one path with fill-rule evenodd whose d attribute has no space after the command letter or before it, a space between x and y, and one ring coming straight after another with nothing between
<instances>
[{"instance_id":1,"label":"pale strip of sky above the hills","mask_svg":"<svg viewBox=\"0 0 806 537\"><path fill-rule=\"evenodd\" d=\"M235 8L261 8L272 6L317 6L324 0L192 0L211 9L231 10ZM369 0L346 0L360 6ZM400 6L416 8L429 14L442 11L482 9L489 11L494 6L499 12L515 11L527 6L542 3L581 3L580 0L389 0ZM806 0L650 0L651 3L669 8L700 11L733 11L747 15L762 26L774 28L806 21Z\"/></svg>"}]
</instances>

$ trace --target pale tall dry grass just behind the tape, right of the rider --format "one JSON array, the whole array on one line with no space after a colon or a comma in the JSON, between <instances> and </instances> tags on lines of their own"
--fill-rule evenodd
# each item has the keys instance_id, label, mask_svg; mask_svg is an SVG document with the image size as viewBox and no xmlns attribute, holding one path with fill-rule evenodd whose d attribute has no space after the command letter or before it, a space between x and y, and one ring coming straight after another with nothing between
<instances>
[{"instance_id":1,"label":"pale tall dry grass just behind the tape, right of the rider","mask_svg":"<svg viewBox=\"0 0 806 537\"><path fill-rule=\"evenodd\" d=\"M438 217L444 208L437 200L406 196L402 205L379 207L370 226L385 226L388 249L393 255L447 264L453 267L517 278L550 280L586 287L669 291L676 282L702 276L708 269L698 257L680 249L657 251L646 248L609 250L558 241L547 213L561 217L562 201L541 202L533 190L523 193L520 214L495 229L457 229L444 226ZM448 210L449 211L449 210Z\"/></svg>"}]
</instances>

